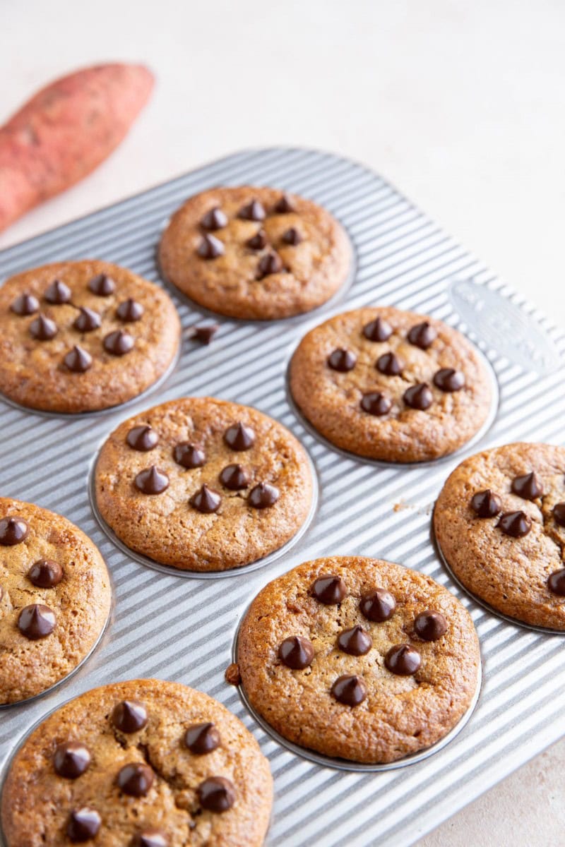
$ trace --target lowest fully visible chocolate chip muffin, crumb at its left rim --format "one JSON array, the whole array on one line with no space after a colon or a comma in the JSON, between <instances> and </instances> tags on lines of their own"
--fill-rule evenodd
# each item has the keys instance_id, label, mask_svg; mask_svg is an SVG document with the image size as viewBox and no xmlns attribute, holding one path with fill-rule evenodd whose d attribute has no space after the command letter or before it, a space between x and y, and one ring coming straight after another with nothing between
<instances>
[{"instance_id":1,"label":"lowest fully visible chocolate chip muffin, crumb at its left rim","mask_svg":"<svg viewBox=\"0 0 565 847\"><path fill-rule=\"evenodd\" d=\"M473 622L449 591L363 556L274 579L237 645L246 696L280 735L371 764L443 738L473 700L479 662Z\"/></svg>"}]
</instances>

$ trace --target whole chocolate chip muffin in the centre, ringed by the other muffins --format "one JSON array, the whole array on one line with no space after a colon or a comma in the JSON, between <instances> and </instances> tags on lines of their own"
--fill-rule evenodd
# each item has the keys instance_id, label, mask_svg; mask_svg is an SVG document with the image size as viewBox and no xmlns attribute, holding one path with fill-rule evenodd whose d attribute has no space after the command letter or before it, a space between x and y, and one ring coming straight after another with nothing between
<instances>
[{"instance_id":1,"label":"whole chocolate chip muffin in the centre, ringed by the other muffins","mask_svg":"<svg viewBox=\"0 0 565 847\"><path fill-rule=\"evenodd\" d=\"M306 521L313 479L294 435L256 409L187 397L120 424L95 472L102 518L131 550L217 571L278 550Z\"/></svg>"}]
</instances>

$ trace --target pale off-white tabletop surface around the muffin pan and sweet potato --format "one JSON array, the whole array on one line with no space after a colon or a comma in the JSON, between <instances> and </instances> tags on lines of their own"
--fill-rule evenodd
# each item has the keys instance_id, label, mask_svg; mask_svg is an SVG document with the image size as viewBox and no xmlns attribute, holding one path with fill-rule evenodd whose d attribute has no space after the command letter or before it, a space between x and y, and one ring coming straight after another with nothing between
<instances>
[{"instance_id":1,"label":"pale off-white tabletop surface around the muffin pan and sweet potato","mask_svg":"<svg viewBox=\"0 0 565 847\"><path fill-rule=\"evenodd\" d=\"M77 67L141 61L152 102L95 174L0 247L241 147L378 170L565 324L563 0L0 0L0 122ZM565 743L422 847L557 847Z\"/></svg>"}]
</instances>

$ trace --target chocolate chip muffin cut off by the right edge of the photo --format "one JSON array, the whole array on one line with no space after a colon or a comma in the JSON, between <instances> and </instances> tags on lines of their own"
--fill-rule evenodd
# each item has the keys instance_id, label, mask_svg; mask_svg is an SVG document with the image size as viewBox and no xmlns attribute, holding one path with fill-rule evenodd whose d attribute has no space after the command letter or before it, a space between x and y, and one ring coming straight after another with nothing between
<instances>
[{"instance_id":1,"label":"chocolate chip muffin cut off by the right edge of the photo","mask_svg":"<svg viewBox=\"0 0 565 847\"><path fill-rule=\"evenodd\" d=\"M465 459L435 504L457 579L493 609L565 630L565 448L508 444Z\"/></svg>"}]
</instances>

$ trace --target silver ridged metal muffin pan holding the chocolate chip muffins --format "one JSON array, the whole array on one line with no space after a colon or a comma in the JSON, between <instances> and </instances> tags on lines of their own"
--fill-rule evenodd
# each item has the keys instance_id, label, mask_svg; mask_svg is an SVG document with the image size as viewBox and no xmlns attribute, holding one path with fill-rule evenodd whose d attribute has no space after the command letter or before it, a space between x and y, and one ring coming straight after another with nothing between
<instances>
[{"instance_id":1,"label":"silver ridged metal muffin pan holding the chocolate chip muffins","mask_svg":"<svg viewBox=\"0 0 565 847\"><path fill-rule=\"evenodd\" d=\"M82 418L46 418L0 400L0 492L60 512L108 562L115 612L101 645L72 678L42 698L0 712L0 767L48 711L96 685L174 679L206 691L241 717L274 775L271 847L413 844L562 734L565 653L557 635L501 620L453 582L430 534L433 503L457 462L512 440L560 443L565 334L496 280L391 185L333 155L291 149L237 153L0 253L0 278L95 257L159 280L155 247L174 208L212 185L255 183L296 191L329 208L356 253L352 285L301 318L244 323L216 318L210 346L184 341L180 363L151 397ZM183 327L210 314L172 292ZM330 449L292 411L285 365L307 326L330 313L390 305L457 327L489 360L499 386L496 419L457 456L424 466L376 467ZM102 532L89 499L98 446L121 420L179 396L212 395L258 407L302 440L319 478L313 522L288 553L240 579L180 579L136 562ZM423 761L385 772L347 772L297 756L267 734L224 681L246 606L269 579L329 554L378 556L428 573L461 598L483 657L479 703L457 738Z\"/></svg>"}]
</instances>

